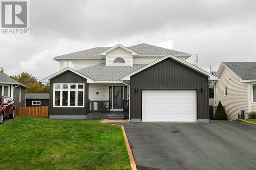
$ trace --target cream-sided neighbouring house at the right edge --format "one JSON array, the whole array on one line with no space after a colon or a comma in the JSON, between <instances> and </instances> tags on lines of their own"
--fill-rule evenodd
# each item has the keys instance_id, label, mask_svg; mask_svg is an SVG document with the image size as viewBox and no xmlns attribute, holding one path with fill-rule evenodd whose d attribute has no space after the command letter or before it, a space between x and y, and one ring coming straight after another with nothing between
<instances>
[{"instance_id":1,"label":"cream-sided neighbouring house at the right edge","mask_svg":"<svg viewBox=\"0 0 256 170\"><path fill-rule=\"evenodd\" d=\"M221 101L229 120L238 118L241 110L256 111L256 62L221 63L219 81L211 84L215 105Z\"/></svg>"}]
</instances>

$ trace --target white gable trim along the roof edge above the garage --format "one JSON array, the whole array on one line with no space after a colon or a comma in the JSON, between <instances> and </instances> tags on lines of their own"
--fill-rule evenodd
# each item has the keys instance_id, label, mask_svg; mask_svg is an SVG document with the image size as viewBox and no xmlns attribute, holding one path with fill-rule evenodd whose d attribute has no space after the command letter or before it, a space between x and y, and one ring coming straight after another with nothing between
<instances>
[{"instance_id":1,"label":"white gable trim along the roof edge above the garage","mask_svg":"<svg viewBox=\"0 0 256 170\"><path fill-rule=\"evenodd\" d=\"M211 75L209 72L207 72L207 71L205 71L205 70L203 70L203 69L201 69L201 68L199 68L199 67L197 67L197 66L195 66L193 64L190 64L190 63L188 63L188 62L186 62L186 61L184 61L184 60L182 60L182 59L180 59L178 57L175 57L175 56L173 56L171 54L166 55L165 57L162 57L162 58L160 58L160 59L158 59L158 60L156 60L156 61L154 61L154 62L152 62L150 64L147 64L146 66L144 66L144 67L142 67L142 68L140 68L140 69L138 69L138 70L136 70L134 72L131 72L131 74L124 76L123 80L130 80L131 76L133 76L133 75L137 74L138 72L140 72L140 71L142 71L142 70L144 70L144 69L146 69L148 67L151 67L151 66L153 66L153 65L155 65L155 64L157 64L157 63L159 63L159 62L161 62L161 61L163 61L163 60L165 60L167 58L171 58L171 59L173 59L173 60L175 60L175 61L177 61L177 62L179 62L179 63L181 63L181 64L183 64L183 65L185 65L185 66L187 66L189 68L191 68L191 69L194 69L197 72L200 72L201 74L207 76L208 80L210 80L210 81L218 80L218 78L216 76Z\"/></svg>"}]
</instances>

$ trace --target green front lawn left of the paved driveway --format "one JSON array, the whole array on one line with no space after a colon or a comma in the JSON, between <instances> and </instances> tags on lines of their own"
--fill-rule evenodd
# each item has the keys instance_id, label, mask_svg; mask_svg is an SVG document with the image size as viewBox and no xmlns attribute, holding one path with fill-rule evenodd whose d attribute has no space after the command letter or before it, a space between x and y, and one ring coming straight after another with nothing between
<instances>
[{"instance_id":1,"label":"green front lawn left of the paved driveway","mask_svg":"<svg viewBox=\"0 0 256 170\"><path fill-rule=\"evenodd\" d=\"M98 121L17 116L0 125L0 169L131 169L121 127Z\"/></svg>"}]
</instances>

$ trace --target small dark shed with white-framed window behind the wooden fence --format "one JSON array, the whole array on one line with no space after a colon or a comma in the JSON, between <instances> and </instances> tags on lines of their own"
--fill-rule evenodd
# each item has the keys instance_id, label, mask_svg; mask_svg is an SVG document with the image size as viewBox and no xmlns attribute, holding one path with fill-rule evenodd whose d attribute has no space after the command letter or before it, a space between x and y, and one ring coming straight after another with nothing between
<instances>
[{"instance_id":1,"label":"small dark shed with white-framed window behind the wooden fence","mask_svg":"<svg viewBox=\"0 0 256 170\"><path fill-rule=\"evenodd\" d=\"M49 106L49 93L27 93L26 106Z\"/></svg>"}]
</instances>

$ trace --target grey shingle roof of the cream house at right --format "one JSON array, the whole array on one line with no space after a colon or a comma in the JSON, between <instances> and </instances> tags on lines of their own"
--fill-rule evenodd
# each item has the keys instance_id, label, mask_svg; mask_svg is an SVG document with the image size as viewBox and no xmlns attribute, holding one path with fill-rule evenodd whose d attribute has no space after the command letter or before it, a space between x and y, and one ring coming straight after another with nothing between
<instances>
[{"instance_id":1,"label":"grey shingle roof of the cream house at right","mask_svg":"<svg viewBox=\"0 0 256 170\"><path fill-rule=\"evenodd\" d=\"M256 80L256 62L224 62L242 80Z\"/></svg>"}]
</instances>

